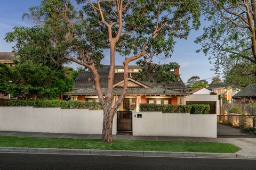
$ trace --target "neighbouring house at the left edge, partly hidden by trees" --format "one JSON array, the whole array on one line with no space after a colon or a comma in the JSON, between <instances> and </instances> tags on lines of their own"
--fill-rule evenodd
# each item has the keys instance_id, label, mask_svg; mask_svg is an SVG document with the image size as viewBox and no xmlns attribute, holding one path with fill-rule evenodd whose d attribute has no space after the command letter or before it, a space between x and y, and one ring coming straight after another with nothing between
<instances>
[{"instance_id":1,"label":"neighbouring house at the left edge, partly hidden by trees","mask_svg":"<svg viewBox=\"0 0 256 170\"><path fill-rule=\"evenodd\" d=\"M0 63L4 63L8 65L9 67L13 66L13 61L17 60L17 57L13 55L12 52L0 52ZM0 99L10 99L11 95L3 95L0 94Z\"/></svg>"}]
</instances>

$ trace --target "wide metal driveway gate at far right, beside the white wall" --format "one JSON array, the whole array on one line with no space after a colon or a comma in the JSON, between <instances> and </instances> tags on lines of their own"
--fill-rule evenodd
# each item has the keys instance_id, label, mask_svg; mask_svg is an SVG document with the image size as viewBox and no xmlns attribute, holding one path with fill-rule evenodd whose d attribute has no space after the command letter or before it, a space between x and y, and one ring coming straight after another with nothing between
<instances>
[{"instance_id":1,"label":"wide metal driveway gate at far right, beside the white wall","mask_svg":"<svg viewBox=\"0 0 256 170\"><path fill-rule=\"evenodd\" d=\"M218 137L256 137L256 116L217 115Z\"/></svg>"}]
</instances>

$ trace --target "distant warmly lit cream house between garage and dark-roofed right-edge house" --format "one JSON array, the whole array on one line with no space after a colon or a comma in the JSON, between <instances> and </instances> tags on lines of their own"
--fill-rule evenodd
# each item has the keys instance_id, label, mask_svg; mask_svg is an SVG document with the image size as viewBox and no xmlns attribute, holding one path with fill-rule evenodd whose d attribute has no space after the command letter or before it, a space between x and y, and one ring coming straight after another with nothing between
<instances>
[{"instance_id":1,"label":"distant warmly lit cream house between garage and dark-roofed right-edge house","mask_svg":"<svg viewBox=\"0 0 256 170\"><path fill-rule=\"evenodd\" d=\"M237 94L238 89L233 88L232 86L212 86L208 89L212 90L217 95L222 95L223 97L227 98L228 103L232 103L232 97Z\"/></svg>"}]
</instances>

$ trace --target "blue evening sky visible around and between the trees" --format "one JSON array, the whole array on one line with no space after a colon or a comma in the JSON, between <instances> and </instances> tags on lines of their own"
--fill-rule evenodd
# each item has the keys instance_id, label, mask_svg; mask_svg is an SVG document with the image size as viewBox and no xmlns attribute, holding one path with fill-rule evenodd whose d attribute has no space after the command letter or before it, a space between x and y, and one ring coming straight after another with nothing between
<instances>
[{"instance_id":1,"label":"blue evening sky visible around and between the trees","mask_svg":"<svg viewBox=\"0 0 256 170\"><path fill-rule=\"evenodd\" d=\"M11 32L13 27L31 27L33 23L28 20L21 20L23 13L28 11L29 7L37 6L40 4L40 0L1 0L0 3L0 52L11 52L13 43L6 43L4 37L7 32ZM178 62L180 64L181 79L184 82L197 75L202 79L208 79L211 82L211 77L214 77L214 71L211 71L213 65L209 63L208 57L203 53L196 53L196 50L201 46L195 44L195 39L202 35L204 25L209 24L203 21L201 28L191 30L188 38L177 39L177 44L174 46L174 53L171 58L165 61L160 61L162 64L170 62ZM109 64L108 52L106 52L105 59L102 60L102 64ZM122 56L116 56L116 64L122 64ZM71 64L70 66L76 68L78 65Z\"/></svg>"}]
</instances>

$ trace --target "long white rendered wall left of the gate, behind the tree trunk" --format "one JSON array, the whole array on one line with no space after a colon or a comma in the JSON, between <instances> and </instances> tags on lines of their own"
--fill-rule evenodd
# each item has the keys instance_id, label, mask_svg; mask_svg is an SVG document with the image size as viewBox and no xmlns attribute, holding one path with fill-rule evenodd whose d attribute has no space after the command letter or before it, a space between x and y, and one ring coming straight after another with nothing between
<instances>
[{"instance_id":1,"label":"long white rendered wall left of the gate, behind the tree trunk","mask_svg":"<svg viewBox=\"0 0 256 170\"><path fill-rule=\"evenodd\" d=\"M0 107L0 131L101 134L102 122L102 110Z\"/></svg>"}]
</instances>

